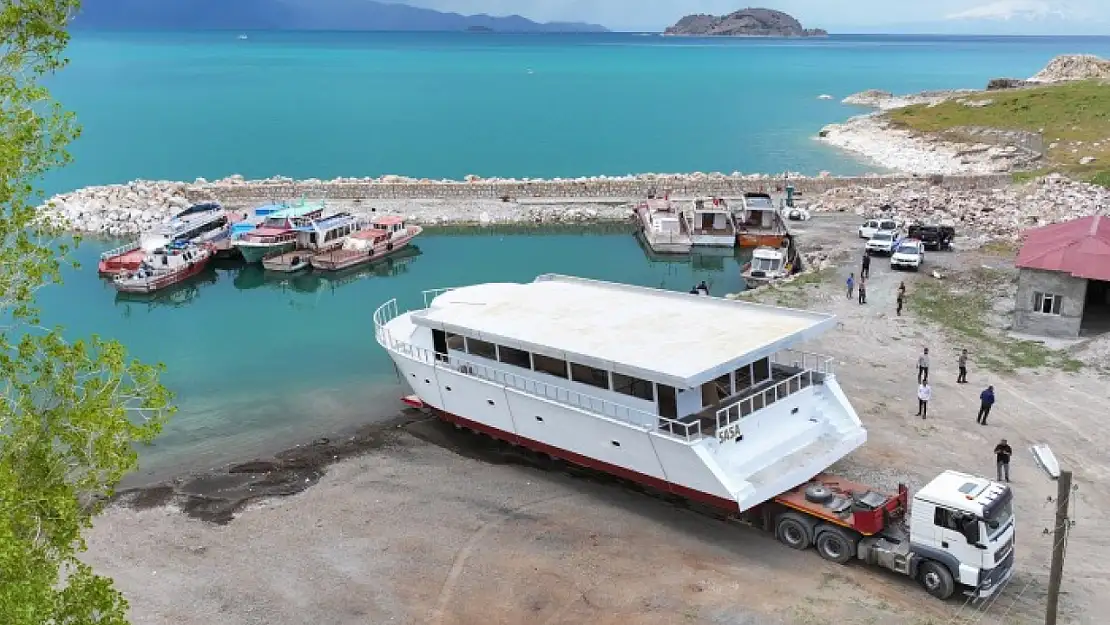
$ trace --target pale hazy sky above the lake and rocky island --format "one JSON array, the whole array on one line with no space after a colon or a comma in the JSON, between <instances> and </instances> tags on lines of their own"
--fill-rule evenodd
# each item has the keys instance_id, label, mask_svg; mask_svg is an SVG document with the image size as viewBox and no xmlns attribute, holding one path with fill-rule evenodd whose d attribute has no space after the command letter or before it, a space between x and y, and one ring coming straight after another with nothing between
<instances>
[{"instance_id":1,"label":"pale hazy sky above the lake and rocky island","mask_svg":"<svg viewBox=\"0 0 1110 625\"><path fill-rule=\"evenodd\" d=\"M517 13L588 21L614 30L662 30L687 13L745 6L786 11L834 32L1110 34L1110 0L393 0L460 13ZM1101 10L1100 10L1101 9Z\"/></svg>"}]
</instances>

